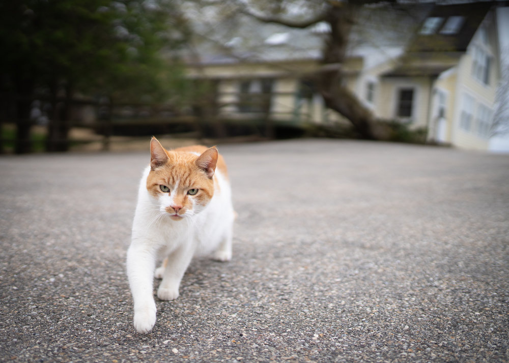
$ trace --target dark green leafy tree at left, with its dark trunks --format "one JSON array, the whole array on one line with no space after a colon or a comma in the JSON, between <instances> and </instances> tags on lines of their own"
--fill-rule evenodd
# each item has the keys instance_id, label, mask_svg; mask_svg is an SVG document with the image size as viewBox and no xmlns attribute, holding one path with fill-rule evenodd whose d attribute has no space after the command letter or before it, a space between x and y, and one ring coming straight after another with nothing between
<instances>
[{"instance_id":1,"label":"dark green leafy tree at left, with its dark trunks","mask_svg":"<svg viewBox=\"0 0 509 363\"><path fill-rule=\"evenodd\" d=\"M2 93L16 104L16 153L30 150L36 96L52 103L49 150L67 148L77 91L124 100L164 96L172 72L165 74L161 54L179 47L186 29L171 0L0 2L0 79Z\"/></svg>"}]
</instances>

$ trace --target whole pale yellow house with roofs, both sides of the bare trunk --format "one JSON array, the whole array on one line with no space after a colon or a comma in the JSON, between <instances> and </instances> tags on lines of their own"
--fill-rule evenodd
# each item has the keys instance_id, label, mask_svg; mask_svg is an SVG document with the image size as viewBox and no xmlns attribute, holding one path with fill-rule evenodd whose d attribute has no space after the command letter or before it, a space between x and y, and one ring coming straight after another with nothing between
<instances>
[{"instance_id":1,"label":"whole pale yellow house with roofs, both sides of the bare trunk","mask_svg":"<svg viewBox=\"0 0 509 363\"><path fill-rule=\"evenodd\" d=\"M426 129L429 141L487 150L500 78L495 10L491 3L428 4L417 15L403 44L352 50L343 65L347 86L375 115ZM408 19L398 19L410 28ZM304 35L275 25L257 29L262 47L256 55L205 56L189 64L189 77L214 80L218 116L279 124L344 122L324 107L313 82L326 24ZM225 48L233 53L243 43L236 36Z\"/></svg>"}]
</instances>

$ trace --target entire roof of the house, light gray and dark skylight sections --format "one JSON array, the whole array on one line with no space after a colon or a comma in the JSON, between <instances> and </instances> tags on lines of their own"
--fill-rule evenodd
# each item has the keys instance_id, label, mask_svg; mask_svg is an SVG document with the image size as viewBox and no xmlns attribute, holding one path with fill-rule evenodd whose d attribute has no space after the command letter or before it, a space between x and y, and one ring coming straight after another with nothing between
<instances>
[{"instance_id":1,"label":"entire roof of the house, light gray and dark skylight sections","mask_svg":"<svg viewBox=\"0 0 509 363\"><path fill-rule=\"evenodd\" d=\"M418 68L416 63L404 65L409 58L421 58L429 52L449 55L464 52L491 7L491 2L485 2L364 8L350 36L350 55L363 57L365 68L399 58L402 65L386 75L414 74ZM195 28L201 36L188 63L319 61L324 36L328 33L327 24L321 23L298 29L262 23L243 15L230 22L211 18L207 24L203 19L196 19ZM436 75L450 67L450 59L419 67L422 74Z\"/></svg>"}]
</instances>

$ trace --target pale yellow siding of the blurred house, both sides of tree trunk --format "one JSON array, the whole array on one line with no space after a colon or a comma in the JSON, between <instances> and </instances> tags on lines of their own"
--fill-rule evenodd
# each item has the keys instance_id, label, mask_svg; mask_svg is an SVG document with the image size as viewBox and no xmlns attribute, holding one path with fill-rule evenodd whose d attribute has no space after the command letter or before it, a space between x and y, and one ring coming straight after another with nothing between
<instances>
[{"instance_id":1,"label":"pale yellow siding of the blurred house, both sides of tree trunk","mask_svg":"<svg viewBox=\"0 0 509 363\"><path fill-rule=\"evenodd\" d=\"M476 26L478 24L477 22ZM486 33L479 30L480 28L486 29ZM399 54L403 55L402 57L394 55L371 68L367 68L370 62L365 62L361 56L348 58L343 65L346 75L343 82L366 107L380 118L397 120L407 124L411 129L428 128L429 140L460 148L487 150L489 139L486 133L486 115L493 111L496 86L500 78L498 35L493 12L488 13L480 28L471 38L466 52L464 52L466 43L461 43L461 47L454 50L433 52L430 50L429 53L425 52L425 56L419 56L420 53L417 52L414 54L414 59L405 58L405 54ZM468 39L472 34L473 31L469 33ZM487 84L483 82L484 79L480 79L482 77L479 74L482 72L476 72L476 77L472 75L474 57L477 65L482 64L479 61L478 51L474 56L475 47L482 47L490 57L491 71ZM405 68L406 66L409 67ZM188 75L195 79L219 81L219 102L226 105L220 112L225 117L250 117L245 111L240 114L236 105L240 99L238 93L241 82L271 79L273 81L270 109L272 119L278 122L297 123L345 122L341 115L325 109L324 101L316 89L313 89L311 93L300 92L301 81L312 79L309 76L316 74L319 67L316 59L206 64L189 67ZM446 70L437 75L444 69ZM477 70L479 69L483 68L477 67ZM366 97L369 82L375 84L374 92L370 96L371 101L368 101ZM409 117L398 117L399 92L403 88L413 89ZM441 95L446 95L445 103L438 101L435 97L437 90ZM475 102L475 106L472 111L472 126L469 130L466 130L464 124L463 128L460 127L462 102L464 102L462 99L465 94L475 100L471 102ZM244 98L245 96L244 94ZM440 107L445 108L445 112L437 113L437 102L441 102ZM407 107L401 110L409 109ZM481 128L477 125L479 114L483 118Z\"/></svg>"}]
</instances>

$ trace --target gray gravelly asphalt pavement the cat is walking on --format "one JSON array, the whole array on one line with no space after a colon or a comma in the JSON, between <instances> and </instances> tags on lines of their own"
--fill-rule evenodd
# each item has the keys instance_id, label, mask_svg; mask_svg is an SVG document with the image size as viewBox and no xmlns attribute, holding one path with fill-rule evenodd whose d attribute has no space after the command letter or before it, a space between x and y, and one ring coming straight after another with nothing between
<instances>
[{"instance_id":1,"label":"gray gravelly asphalt pavement the cat is walking on","mask_svg":"<svg viewBox=\"0 0 509 363\"><path fill-rule=\"evenodd\" d=\"M0 158L0 360L509 360L509 157L219 149L234 259L194 260L147 335L124 261L148 151Z\"/></svg>"}]
</instances>

